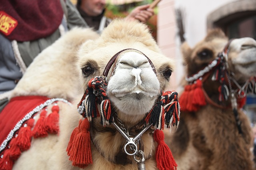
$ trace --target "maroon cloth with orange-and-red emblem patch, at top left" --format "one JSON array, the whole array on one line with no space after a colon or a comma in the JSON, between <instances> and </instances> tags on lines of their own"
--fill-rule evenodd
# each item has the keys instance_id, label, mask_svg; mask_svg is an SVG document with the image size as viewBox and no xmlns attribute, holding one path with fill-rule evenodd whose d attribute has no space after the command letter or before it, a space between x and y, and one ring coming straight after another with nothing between
<instances>
[{"instance_id":1,"label":"maroon cloth with orange-and-red emblem patch, at top left","mask_svg":"<svg viewBox=\"0 0 256 170\"><path fill-rule=\"evenodd\" d=\"M12 25L6 16L17 22ZM0 33L9 40L33 41L54 33L62 18L59 0L2 0L0 22L7 27L0 27Z\"/></svg>"}]
</instances>

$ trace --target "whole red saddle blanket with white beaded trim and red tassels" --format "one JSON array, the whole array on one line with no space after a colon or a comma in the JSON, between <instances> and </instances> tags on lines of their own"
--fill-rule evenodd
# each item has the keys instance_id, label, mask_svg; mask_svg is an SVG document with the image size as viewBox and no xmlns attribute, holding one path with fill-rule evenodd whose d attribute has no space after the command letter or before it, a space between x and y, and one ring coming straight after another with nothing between
<instances>
[{"instance_id":1,"label":"whole red saddle blanket with white beaded trim and red tassels","mask_svg":"<svg viewBox=\"0 0 256 170\"><path fill-rule=\"evenodd\" d=\"M30 148L31 140L59 131L59 107L56 102L68 101L45 96L12 98L0 113L0 169L11 170L14 161ZM54 104L55 103L55 104ZM51 112L46 107L51 107ZM49 112L49 114L48 114ZM35 123L35 115L40 114Z\"/></svg>"}]
</instances>

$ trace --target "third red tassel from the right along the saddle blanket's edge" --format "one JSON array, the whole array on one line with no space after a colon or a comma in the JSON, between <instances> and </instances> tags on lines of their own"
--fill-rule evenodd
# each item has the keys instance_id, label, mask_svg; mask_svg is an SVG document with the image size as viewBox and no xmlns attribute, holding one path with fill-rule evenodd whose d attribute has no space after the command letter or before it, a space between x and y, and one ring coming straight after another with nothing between
<instances>
[{"instance_id":1,"label":"third red tassel from the right along the saddle blanket's edge","mask_svg":"<svg viewBox=\"0 0 256 170\"><path fill-rule=\"evenodd\" d=\"M20 147L22 152L30 148L32 138L31 128L34 126L34 121L34 119L29 119L26 123L27 126L21 127L18 132L17 145Z\"/></svg>"}]
</instances>

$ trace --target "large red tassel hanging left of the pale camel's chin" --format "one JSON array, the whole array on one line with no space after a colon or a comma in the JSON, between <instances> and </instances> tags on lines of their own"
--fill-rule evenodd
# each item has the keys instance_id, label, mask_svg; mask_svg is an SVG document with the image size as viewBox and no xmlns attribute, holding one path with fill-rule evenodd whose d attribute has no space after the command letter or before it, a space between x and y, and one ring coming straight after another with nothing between
<instances>
[{"instance_id":1,"label":"large red tassel hanging left of the pale camel's chin","mask_svg":"<svg viewBox=\"0 0 256 170\"><path fill-rule=\"evenodd\" d=\"M90 122L87 118L80 121L78 128L72 132L67 151L73 166L85 168L92 164Z\"/></svg>"}]
</instances>

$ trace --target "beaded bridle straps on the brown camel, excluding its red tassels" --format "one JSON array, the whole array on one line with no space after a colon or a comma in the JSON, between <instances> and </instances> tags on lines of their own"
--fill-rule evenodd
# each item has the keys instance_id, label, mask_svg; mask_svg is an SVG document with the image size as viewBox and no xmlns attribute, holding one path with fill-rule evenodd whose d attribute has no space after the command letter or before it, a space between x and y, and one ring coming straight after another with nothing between
<instances>
[{"instance_id":1,"label":"beaded bridle straps on the brown camel, excluding its red tassels","mask_svg":"<svg viewBox=\"0 0 256 170\"><path fill-rule=\"evenodd\" d=\"M234 79L234 73L228 70L228 54L230 52L230 44L232 42L232 39L228 41L227 45L225 46L224 50L218 54L218 57L214 59L208 66L203 68L202 70L198 71L196 74L186 77L186 81L191 85L197 80L201 80L202 84L209 78L209 76L212 75L212 80L216 81L218 80L221 83L221 86L219 88L219 101L222 100L227 101L228 97L230 96L230 102L231 106L225 107L222 105L217 104L211 98L208 96L206 91L204 90L203 86L202 91L204 93L205 100L208 104L211 104L215 107L226 109L226 108L232 108L234 112L234 116L236 118L236 123L238 126L239 133L242 133L241 129L241 121L239 120L238 116L238 103L241 103L239 107L242 107L244 105L245 97L248 92L254 92L256 93L256 77L250 78L245 82L244 85L240 86L238 82ZM232 82L236 86L236 89L232 88Z\"/></svg>"}]
</instances>

